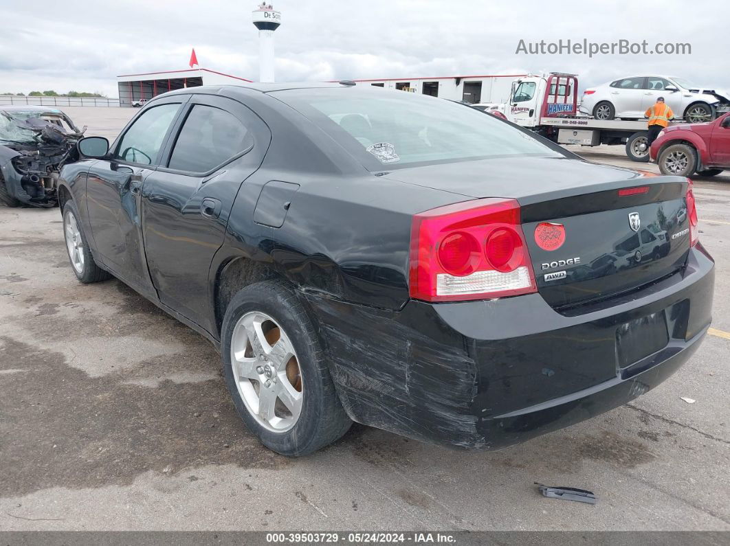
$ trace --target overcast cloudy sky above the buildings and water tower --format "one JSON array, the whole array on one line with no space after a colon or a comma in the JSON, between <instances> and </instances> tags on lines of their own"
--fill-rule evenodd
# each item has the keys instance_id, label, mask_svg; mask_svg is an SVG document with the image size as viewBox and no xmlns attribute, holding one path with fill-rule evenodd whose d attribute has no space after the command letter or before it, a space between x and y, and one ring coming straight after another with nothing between
<instances>
[{"instance_id":1,"label":"overcast cloudy sky above the buildings and water tower","mask_svg":"<svg viewBox=\"0 0 730 546\"><path fill-rule=\"evenodd\" d=\"M255 0L4 1L0 93L117 95L115 77L204 68L258 79ZM623 5L621 5L623 4ZM729 20L720 2L664 0L275 0L278 81L569 71L582 87L673 74L730 88ZM715 15L713 15L715 14ZM646 40L691 55L524 55L525 42Z\"/></svg>"}]
</instances>

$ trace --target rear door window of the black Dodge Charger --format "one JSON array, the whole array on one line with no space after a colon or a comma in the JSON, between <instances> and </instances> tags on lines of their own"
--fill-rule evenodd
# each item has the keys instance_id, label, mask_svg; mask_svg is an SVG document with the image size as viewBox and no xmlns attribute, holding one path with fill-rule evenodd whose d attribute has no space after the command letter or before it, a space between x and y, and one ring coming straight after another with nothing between
<instances>
[{"instance_id":1,"label":"rear door window of the black Dodge Charger","mask_svg":"<svg viewBox=\"0 0 730 546\"><path fill-rule=\"evenodd\" d=\"M253 137L230 112L196 104L177 137L169 168L206 173L243 152Z\"/></svg>"}]
</instances>

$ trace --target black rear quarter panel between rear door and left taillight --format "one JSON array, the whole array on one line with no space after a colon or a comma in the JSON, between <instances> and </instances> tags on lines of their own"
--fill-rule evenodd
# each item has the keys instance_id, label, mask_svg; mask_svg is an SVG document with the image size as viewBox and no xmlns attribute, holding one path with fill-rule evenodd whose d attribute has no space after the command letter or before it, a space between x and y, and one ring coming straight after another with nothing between
<instances>
[{"instance_id":1,"label":"black rear quarter panel between rear door and left taillight","mask_svg":"<svg viewBox=\"0 0 730 546\"><path fill-rule=\"evenodd\" d=\"M399 309L408 300L412 215L467 199L370 174L283 174L259 171L246 182L225 252L267 262L304 292L377 308ZM281 227L253 222L269 180L299 184Z\"/></svg>"}]
</instances>

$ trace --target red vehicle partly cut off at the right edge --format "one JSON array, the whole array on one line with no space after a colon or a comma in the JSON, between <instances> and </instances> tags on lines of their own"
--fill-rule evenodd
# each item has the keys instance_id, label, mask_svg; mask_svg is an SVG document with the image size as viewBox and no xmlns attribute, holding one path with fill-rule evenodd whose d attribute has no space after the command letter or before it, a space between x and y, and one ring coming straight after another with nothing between
<instances>
[{"instance_id":1,"label":"red vehicle partly cut off at the right edge","mask_svg":"<svg viewBox=\"0 0 730 546\"><path fill-rule=\"evenodd\" d=\"M730 169L730 113L711 123L672 125L650 149L662 174L715 176Z\"/></svg>"}]
</instances>

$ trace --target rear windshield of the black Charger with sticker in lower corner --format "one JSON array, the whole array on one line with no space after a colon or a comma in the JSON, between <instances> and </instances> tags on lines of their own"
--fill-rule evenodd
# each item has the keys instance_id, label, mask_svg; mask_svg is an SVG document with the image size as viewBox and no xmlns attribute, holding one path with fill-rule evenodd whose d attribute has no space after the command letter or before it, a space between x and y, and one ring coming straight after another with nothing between
<instances>
[{"instance_id":1,"label":"rear windshield of the black Charger with sticker in lower corner","mask_svg":"<svg viewBox=\"0 0 730 546\"><path fill-rule=\"evenodd\" d=\"M506 156L563 154L470 106L403 91L272 93L309 117L370 170Z\"/></svg>"}]
</instances>

